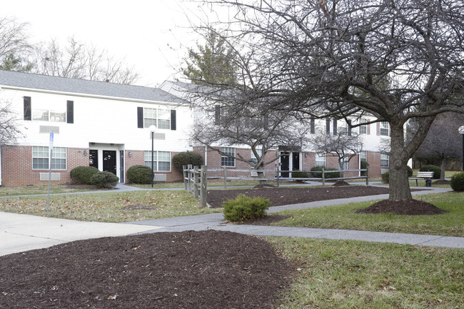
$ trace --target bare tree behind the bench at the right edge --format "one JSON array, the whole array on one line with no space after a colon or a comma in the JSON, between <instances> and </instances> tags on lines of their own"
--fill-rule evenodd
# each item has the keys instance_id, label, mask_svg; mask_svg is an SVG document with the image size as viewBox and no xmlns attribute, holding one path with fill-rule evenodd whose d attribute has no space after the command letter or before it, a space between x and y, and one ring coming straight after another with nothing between
<instances>
[{"instance_id":1,"label":"bare tree behind the bench at the right edge","mask_svg":"<svg viewBox=\"0 0 464 309\"><path fill-rule=\"evenodd\" d=\"M446 162L449 158L460 158L462 138L458 128L464 125L464 115L443 113L435 118L427 136L415 151L415 157L433 157L441 161L440 179L445 180ZM416 128L417 129L417 128Z\"/></svg>"}]
</instances>

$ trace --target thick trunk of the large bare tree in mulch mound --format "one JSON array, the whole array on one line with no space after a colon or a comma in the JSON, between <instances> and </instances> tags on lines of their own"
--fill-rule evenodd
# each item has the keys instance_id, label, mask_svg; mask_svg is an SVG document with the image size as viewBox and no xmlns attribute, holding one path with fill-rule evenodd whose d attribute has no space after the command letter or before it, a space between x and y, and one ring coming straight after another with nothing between
<instances>
[{"instance_id":1,"label":"thick trunk of the large bare tree in mulch mound","mask_svg":"<svg viewBox=\"0 0 464 309\"><path fill-rule=\"evenodd\" d=\"M390 126L390 196L391 201L410 201L408 154L404 150L403 126Z\"/></svg>"}]
</instances>

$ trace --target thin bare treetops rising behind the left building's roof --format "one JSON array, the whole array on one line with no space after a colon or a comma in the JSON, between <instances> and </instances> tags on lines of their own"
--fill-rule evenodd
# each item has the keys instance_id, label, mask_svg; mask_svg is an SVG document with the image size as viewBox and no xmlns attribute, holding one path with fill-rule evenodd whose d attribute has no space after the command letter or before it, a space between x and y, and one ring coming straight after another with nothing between
<instances>
[{"instance_id":1,"label":"thin bare treetops rising behind the left building's roof","mask_svg":"<svg viewBox=\"0 0 464 309\"><path fill-rule=\"evenodd\" d=\"M138 79L123 60L110 57L104 50L86 46L74 37L62 47L57 41L36 47L36 73L70 78L130 84Z\"/></svg>"}]
</instances>

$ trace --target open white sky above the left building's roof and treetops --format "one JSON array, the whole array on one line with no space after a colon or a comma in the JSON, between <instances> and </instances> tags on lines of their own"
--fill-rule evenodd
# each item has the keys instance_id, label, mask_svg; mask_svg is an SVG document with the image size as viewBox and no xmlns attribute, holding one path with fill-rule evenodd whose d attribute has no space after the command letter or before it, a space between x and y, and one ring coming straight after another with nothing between
<instances>
[{"instance_id":1,"label":"open white sky above the left building's roof and treetops","mask_svg":"<svg viewBox=\"0 0 464 309\"><path fill-rule=\"evenodd\" d=\"M134 66L141 76L136 83L140 86L158 86L167 79L172 80L187 47L195 47L196 41L201 41L189 29L188 21L203 16L198 3L182 0L2 2L1 16L29 23L32 42L56 39L65 44L67 38L74 36L79 42L94 44Z\"/></svg>"}]
</instances>

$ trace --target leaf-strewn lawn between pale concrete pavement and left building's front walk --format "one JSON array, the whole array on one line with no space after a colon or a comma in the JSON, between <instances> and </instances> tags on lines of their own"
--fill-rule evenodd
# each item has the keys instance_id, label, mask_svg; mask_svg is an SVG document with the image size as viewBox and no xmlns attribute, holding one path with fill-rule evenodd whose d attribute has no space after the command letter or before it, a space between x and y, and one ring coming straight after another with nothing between
<instances>
[{"instance_id":1,"label":"leaf-strewn lawn between pale concrete pavement and left building's front walk","mask_svg":"<svg viewBox=\"0 0 464 309\"><path fill-rule=\"evenodd\" d=\"M0 198L0 211L79 221L128 222L156 218L214 213L221 209L201 208L186 191L133 191L51 196ZM125 210L125 206L149 206L150 210Z\"/></svg>"}]
</instances>

